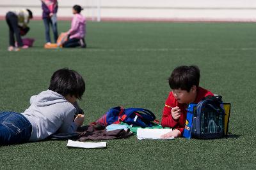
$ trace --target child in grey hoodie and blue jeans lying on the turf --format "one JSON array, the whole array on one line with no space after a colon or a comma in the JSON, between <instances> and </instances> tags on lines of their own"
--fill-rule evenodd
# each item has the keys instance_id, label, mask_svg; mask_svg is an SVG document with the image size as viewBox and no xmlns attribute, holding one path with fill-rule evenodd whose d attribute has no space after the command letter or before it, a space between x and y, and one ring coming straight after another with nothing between
<instances>
[{"instance_id":1,"label":"child in grey hoodie and blue jeans lying on the turf","mask_svg":"<svg viewBox=\"0 0 256 170\"><path fill-rule=\"evenodd\" d=\"M24 113L0 113L0 144L40 141L54 133L76 132L84 122L79 114L83 110L76 102L84 90L84 80L76 71L64 68L54 72L49 88L32 96Z\"/></svg>"}]
</instances>

